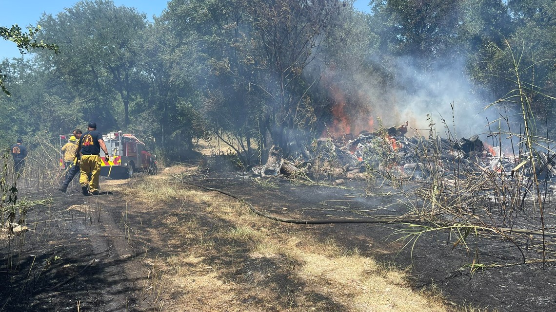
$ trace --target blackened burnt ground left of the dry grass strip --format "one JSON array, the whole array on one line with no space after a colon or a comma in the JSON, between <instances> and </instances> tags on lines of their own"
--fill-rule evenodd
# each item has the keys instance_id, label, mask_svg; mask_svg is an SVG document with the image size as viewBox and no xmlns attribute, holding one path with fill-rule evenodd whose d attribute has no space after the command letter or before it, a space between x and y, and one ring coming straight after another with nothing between
<instances>
[{"instance_id":1,"label":"blackened burnt ground left of the dry grass strip","mask_svg":"<svg viewBox=\"0 0 556 312\"><path fill-rule=\"evenodd\" d=\"M143 266L127 260L141 251L127 244L118 226L121 207L84 200L77 189L53 195L47 207L29 209L30 230L11 250L2 240L2 310L127 311L138 305L141 275L129 273Z\"/></svg>"}]
</instances>

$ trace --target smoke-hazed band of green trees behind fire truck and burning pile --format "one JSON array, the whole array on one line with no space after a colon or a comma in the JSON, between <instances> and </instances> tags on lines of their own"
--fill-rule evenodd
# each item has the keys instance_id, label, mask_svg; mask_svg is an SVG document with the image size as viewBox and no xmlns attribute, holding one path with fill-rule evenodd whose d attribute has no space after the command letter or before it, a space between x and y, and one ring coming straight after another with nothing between
<instances>
[{"instance_id":1,"label":"smoke-hazed band of green trees behind fire truck and burning pile","mask_svg":"<svg viewBox=\"0 0 556 312\"><path fill-rule=\"evenodd\" d=\"M339 0L172 0L149 22L111 1L77 2L37 21L36 36L59 54L3 60L11 97L0 97L0 140L57 137L96 120L171 157L212 135L255 162L259 145L287 154L323 134L373 130L377 118L426 129L429 113L451 120L450 103L458 134L471 135L486 131L485 117L519 108L514 72L538 94L538 124L555 117L553 1L370 6L365 14Z\"/></svg>"}]
</instances>

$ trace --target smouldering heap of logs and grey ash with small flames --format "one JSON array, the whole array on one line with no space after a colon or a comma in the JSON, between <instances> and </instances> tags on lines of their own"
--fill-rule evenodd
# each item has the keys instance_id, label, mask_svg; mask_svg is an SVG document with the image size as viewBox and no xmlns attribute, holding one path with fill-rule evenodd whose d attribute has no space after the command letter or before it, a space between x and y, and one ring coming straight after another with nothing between
<instances>
[{"instance_id":1,"label":"smouldering heap of logs and grey ash with small flames","mask_svg":"<svg viewBox=\"0 0 556 312\"><path fill-rule=\"evenodd\" d=\"M408 125L405 122L375 132L362 131L357 136L320 138L310 147L297 147L289 159L282 158L282 150L273 146L266 164L252 171L261 176L304 174L335 184L368 179L370 172L414 181L439 175L465 178L491 173L498 173L497 179L508 180L533 174L542 179L556 177L554 153L536 152L531 162L529 155L504 154L500 146L484 144L479 135L459 139L408 137Z\"/></svg>"}]
</instances>

